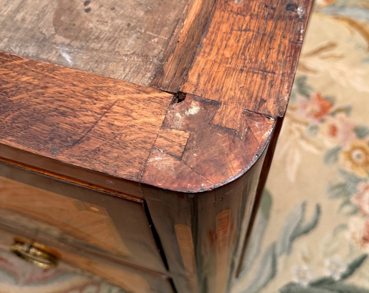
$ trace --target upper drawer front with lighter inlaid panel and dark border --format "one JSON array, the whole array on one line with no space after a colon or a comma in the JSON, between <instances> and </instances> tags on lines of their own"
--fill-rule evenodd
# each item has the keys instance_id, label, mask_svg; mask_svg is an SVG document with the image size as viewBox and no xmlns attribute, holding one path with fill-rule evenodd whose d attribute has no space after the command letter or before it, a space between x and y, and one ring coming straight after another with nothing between
<instances>
[{"instance_id":1,"label":"upper drawer front with lighter inlaid panel and dark border","mask_svg":"<svg viewBox=\"0 0 369 293\"><path fill-rule=\"evenodd\" d=\"M166 271L141 200L118 197L10 164L0 165L0 175L0 222Z\"/></svg>"}]
</instances>

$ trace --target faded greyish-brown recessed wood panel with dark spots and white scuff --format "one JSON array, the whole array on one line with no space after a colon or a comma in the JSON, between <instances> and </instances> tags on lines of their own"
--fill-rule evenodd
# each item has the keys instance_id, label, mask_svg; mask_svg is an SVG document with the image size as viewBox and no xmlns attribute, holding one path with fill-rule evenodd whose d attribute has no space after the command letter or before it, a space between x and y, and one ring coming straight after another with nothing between
<instances>
[{"instance_id":1,"label":"faded greyish-brown recessed wood panel with dark spots and white scuff","mask_svg":"<svg viewBox=\"0 0 369 293\"><path fill-rule=\"evenodd\" d=\"M0 50L147 86L186 4L1 0Z\"/></svg>"}]
</instances>

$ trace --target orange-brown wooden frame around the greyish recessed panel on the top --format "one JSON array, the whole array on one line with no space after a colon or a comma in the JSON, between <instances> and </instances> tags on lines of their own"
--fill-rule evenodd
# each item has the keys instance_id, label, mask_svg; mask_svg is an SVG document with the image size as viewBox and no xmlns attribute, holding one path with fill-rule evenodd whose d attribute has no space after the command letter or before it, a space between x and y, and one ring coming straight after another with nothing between
<instances>
[{"instance_id":1,"label":"orange-brown wooden frame around the greyish recessed panel on the top","mask_svg":"<svg viewBox=\"0 0 369 293\"><path fill-rule=\"evenodd\" d=\"M139 197L241 176L283 116L311 8L267 2L189 1L151 87L0 53L0 157Z\"/></svg>"}]
</instances>

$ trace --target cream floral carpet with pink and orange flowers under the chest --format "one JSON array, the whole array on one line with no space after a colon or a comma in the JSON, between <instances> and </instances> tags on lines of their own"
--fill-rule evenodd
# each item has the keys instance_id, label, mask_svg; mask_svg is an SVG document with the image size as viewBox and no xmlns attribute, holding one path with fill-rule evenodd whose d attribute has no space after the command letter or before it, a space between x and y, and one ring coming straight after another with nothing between
<instances>
[{"instance_id":1,"label":"cream floral carpet with pink and orange flowers under the chest","mask_svg":"<svg viewBox=\"0 0 369 293\"><path fill-rule=\"evenodd\" d=\"M369 0L315 1L232 293L369 293L368 47ZM42 270L0 252L0 293L36 292L124 293L66 265Z\"/></svg>"}]
</instances>

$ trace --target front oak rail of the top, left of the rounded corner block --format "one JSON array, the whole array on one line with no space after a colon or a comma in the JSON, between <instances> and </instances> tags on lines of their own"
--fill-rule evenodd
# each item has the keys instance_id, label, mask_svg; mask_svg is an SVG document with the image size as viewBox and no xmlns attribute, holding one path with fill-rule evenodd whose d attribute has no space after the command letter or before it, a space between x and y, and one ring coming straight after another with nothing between
<instances>
[{"instance_id":1,"label":"front oak rail of the top, left of the rounded corner block","mask_svg":"<svg viewBox=\"0 0 369 293\"><path fill-rule=\"evenodd\" d=\"M1 53L0 144L137 182L172 98Z\"/></svg>"}]
</instances>

